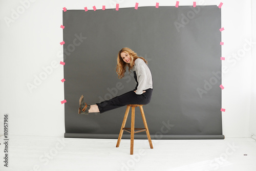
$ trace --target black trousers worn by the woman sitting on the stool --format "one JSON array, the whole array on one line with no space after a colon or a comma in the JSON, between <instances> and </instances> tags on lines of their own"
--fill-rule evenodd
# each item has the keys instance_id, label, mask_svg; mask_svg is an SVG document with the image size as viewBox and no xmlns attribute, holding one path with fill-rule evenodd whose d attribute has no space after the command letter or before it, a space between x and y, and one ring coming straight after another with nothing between
<instances>
[{"instance_id":1,"label":"black trousers worn by the woman sitting on the stool","mask_svg":"<svg viewBox=\"0 0 256 171\"><path fill-rule=\"evenodd\" d=\"M145 91L145 93L140 95L137 95L134 91L130 91L96 104L98 105L100 113L120 108L127 104L148 104L151 100L153 89L147 89Z\"/></svg>"}]
</instances>

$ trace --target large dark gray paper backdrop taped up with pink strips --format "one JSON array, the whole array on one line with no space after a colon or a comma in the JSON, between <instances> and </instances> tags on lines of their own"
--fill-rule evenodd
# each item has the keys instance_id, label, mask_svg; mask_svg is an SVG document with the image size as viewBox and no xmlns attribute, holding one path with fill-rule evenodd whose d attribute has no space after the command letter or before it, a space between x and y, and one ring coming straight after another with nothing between
<instances>
[{"instance_id":1,"label":"large dark gray paper backdrop taped up with pink strips","mask_svg":"<svg viewBox=\"0 0 256 171\"><path fill-rule=\"evenodd\" d=\"M129 47L148 60L152 71L153 96L143 109L153 139L224 138L217 6L68 9L63 26L65 137L118 137L126 106L78 115L78 99L83 94L95 104L135 88L133 73L123 79L116 74L118 51ZM143 127L139 109L135 127Z\"/></svg>"}]
</instances>

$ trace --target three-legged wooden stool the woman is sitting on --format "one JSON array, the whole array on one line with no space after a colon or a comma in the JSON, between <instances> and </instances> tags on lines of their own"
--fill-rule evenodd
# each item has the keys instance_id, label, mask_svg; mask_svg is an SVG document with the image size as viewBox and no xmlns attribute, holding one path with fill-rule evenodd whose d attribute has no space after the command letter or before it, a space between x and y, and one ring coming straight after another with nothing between
<instances>
[{"instance_id":1,"label":"three-legged wooden stool the woman is sitting on","mask_svg":"<svg viewBox=\"0 0 256 171\"><path fill-rule=\"evenodd\" d=\"M146 124L146 118L145 118L142 106L143 106L142 104L128 104L127 105L127 108L126 108L126 111L125 111L125 114L124 114L124 118L123 118L123 123L122 123L122 126L121 126L121 130L120 130L120 133L119 133L117 144L116 144L116 147L119 147L120 141L121 141L121 138L122 138L122 135L123 135L123 131L131 133L131 148L130 148L130 154L131 155L133 154L133 144L134 144L134 134L135 133L140 133L140 132L145 131L146 135L147 135L148 142L150 143L150 148L153 148L152 141L151 141L151 138L150 138L150 132L148 131L148 127L147 127L147 124ZM127 117L128 117L128 114L129 114L130 107L132 107L131 127L124 127L125 123L126 123L126 120L127 120ZM143 123L144 123L144 126L145 126L144 128L134 128L135 107L140 107L140 113L141 113L142 120L143 120ZM138 131L134 131L134 130L138 130Z\"/></svg>"}]
</instances>

